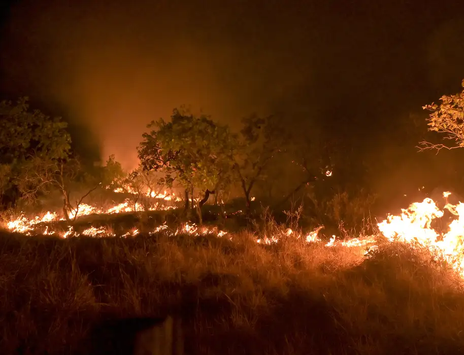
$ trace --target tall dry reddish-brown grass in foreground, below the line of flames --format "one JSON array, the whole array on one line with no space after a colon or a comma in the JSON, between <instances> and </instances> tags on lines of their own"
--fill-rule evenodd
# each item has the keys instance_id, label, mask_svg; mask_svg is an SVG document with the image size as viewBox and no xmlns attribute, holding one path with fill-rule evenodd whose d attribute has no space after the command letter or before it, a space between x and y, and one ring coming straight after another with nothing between
<instances>
[{"instance_id":1,"label":"tall dry reddish-brown grass in foreground, below the line of flames","mask_svg":"<svg viewBox=\"0 0 464 355\"><path fill-rule=\"evenodd\" d=\"M180 313L190 354L437 354L464 350L460 282L427 253L250 234L0 236L4 354L86 353L109 317Z\"/></svg>"}]
</instances>

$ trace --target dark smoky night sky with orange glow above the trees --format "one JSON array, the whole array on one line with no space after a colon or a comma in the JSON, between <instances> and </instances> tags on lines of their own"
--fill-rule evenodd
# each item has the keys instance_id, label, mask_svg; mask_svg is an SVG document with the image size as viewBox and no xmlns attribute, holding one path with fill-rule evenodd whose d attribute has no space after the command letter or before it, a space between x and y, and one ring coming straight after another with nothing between
<instances>
[{"instance_id":1,"label":"dark smoky night sky with orange glow above the trees","mask_svg":"<svg viewBox=\"0 0 464 355\"><path fill-rule=\"evenodd\" d=\"M125 166L145 125L183 103L233 126L302 111L383 157L411 137L410 114L422 123L422 105L460 90L459 3L16 1L3 5L0 92L83 124Z\"/></svg>"}]
</instances>

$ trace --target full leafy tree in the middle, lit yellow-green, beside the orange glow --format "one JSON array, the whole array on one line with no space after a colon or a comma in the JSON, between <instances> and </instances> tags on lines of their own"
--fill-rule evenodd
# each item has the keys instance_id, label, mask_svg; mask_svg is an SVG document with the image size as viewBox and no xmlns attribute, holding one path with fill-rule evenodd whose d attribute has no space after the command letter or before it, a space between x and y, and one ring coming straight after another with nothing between
<instances>
[{"instance_id":1,"label":"full leafy tree in the middle, lit yellow-green, beside the orange glow","mask_svg":"<svg viewBox=\"0 0 464 355\"><path fill-rule=\"evenodd\" d=\"M202 222L202 206L221 181L231 173L236 149L235 136L227 126L213 122L209 116L194 117L186 111L174 109L171 122L162 118L152 121L144 133L138 149L145 170L163 173L160 183L185 190L185 210L189 195L192 207L197 196L196 210Z\"/></svg>"}]
</instances>

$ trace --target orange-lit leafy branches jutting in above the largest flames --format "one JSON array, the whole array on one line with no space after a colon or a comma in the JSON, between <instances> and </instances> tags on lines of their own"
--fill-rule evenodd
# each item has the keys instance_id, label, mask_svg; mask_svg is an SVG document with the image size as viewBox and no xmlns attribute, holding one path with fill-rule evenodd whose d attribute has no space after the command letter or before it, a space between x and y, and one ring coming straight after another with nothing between
<instances>
[{"instance_id":1,"label":"orange-lit leafy branches jutting in above the largest flames","mask_svg":"<svg viewBox=\"0 0 464 355\"><path fill-rule=\"evenodd\" d=\"M464 88L464 80L462 80ZM454 141L451 145L433 144L423 140L420 143L421 150L442 148L454 149L464 147L464 90L455 95L443 95L440 98L440 105L432 104L422 107L424 110L431 111L432 114L427 118L428 130L444 134L444 139Z\"/></svg>"}]
</instances>

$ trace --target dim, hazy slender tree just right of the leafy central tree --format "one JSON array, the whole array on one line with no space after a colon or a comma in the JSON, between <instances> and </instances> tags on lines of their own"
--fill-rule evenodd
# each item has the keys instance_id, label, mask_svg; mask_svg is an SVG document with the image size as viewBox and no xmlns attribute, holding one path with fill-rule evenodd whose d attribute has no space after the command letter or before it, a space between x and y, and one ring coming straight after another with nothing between
<instances>
[{"instance_id":1,"label":"dim, hazy slender tree just right of the leafy central tree","mask_svg":"<svg viewBox=\"0 0 464 355\"><path fill-rule=\"evenodd\" d=\"M285 123L277 116L258 117L253 114L242 119L234 171L245 196L247 214L251 206L251 190L266 177L272 159L283 153L288 142Z\"/></svg>"}]
</instances>

